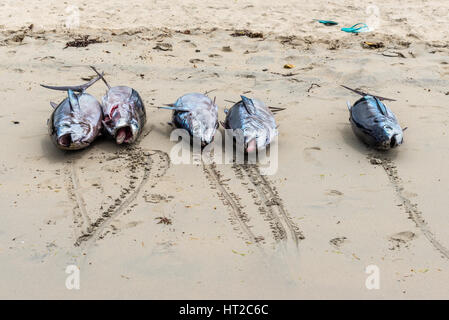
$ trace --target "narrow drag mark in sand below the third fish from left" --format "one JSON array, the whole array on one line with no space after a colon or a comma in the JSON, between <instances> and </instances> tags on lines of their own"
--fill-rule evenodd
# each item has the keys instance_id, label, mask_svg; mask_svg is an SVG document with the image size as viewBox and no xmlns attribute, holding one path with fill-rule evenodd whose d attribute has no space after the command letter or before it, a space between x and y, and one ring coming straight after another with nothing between
<instances>
[{"instance_id":1,"label":"narrow drag mark in sand below the third fish from left","mask_svg":"<svg viewBox=\"0 0 449 320\"><path fill-rule=\"evenodd\" d=\"M247 225L247 222L249 221L248 216L242 211L242 206L239 204L235 194L226 190L226 185L221 179L221 174L217 170L217 165L215 163L205 164L203 162L203 168L212 187L217 189L224 205L231 209L230 211L233 220L239 224L240 229L245 233L249 240L258 245L258 239Z\"/></svg>"}]
</instances>

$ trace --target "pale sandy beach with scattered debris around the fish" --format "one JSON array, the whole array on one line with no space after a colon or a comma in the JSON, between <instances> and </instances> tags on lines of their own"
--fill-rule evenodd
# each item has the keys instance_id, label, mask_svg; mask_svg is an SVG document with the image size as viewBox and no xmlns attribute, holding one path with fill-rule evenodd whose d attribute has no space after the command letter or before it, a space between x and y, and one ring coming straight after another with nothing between
<instances>
[{"instance_id":1,"label":"pale sandy beach with scattered debris around the fish","mask_svg":"<svg viewBox=\"0 0 449 320\"><path fill-rule=\"evenodd\" d=\"M2 1L0 298L449 298L448 18L445 1ZM358 22L374 30L340 31ZM90 65L142 96L134 145L52 144L66 95L39 84ZM340 85L395 99L404 144L361 143ZM172 161L155 107L207 91L219 120L242 93L285 108L274 174Z\"/></svg>"}]
</instances>

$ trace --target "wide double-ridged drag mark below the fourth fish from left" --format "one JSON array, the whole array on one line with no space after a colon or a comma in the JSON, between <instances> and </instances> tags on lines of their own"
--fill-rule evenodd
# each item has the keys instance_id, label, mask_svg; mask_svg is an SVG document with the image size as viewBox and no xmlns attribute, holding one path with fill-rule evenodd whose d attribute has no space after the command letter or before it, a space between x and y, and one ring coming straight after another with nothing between
<instances>
[{"instance_id":1,"label":"wide double-ridged drag mark below the fourth fish from left","mask_svg":"<svg viewBox=\"0 0 449 320\"><path fill-rule=\"evenodd\" d=\"M291 221L282 204L282 200L277 192L274 191L270 182L260 173L258 166L254 164L240 164L238 167L246 173L256 188L262 203L266 207L264 211L268 213L270 220L274 222L270 227L275 239L283 241L293 240L294 244L298 246L299 240L303 240L304 235Z\"/></svg>"}]
</instances>

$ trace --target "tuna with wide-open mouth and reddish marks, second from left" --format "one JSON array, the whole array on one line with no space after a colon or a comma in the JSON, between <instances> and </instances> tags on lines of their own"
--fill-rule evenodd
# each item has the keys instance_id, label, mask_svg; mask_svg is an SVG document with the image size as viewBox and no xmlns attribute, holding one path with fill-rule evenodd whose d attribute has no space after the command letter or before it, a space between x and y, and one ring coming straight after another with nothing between
<instances>
[{"instance_id":1,"label":"tuna with wide-open mouth and reddish marks, second from left","mask_svg":"<svg viewBox=\"0 0 449 320\"><path fill-rule=\"evenodd\" d=\"M91 67L98 75L99 72ZM117 144L133 143L142 133L146 122L146 111L142 98L133 88L126 86L108 87L103 97L103 126L114 137Z\"/></svg>"}]
</instances>

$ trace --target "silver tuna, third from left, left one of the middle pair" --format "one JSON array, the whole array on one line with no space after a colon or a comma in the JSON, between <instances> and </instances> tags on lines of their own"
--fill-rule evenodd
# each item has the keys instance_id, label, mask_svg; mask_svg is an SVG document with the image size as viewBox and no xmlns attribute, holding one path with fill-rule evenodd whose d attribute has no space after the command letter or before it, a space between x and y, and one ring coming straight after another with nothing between
<instances>
[{"instance_id":1,"label":"silver tuna, third from left, left one of the middle pair","mask_svg":"<svg viewBox=\"0 0 449 320\"><path fill-rule=\"evenodd\" d=\"M215 100L201 93L188 93L175 103L159 109L173 110L173 126L185 129L191 136L201 139L202 146L213 141L218 128Z\"/></svg>"}]
</instances>

